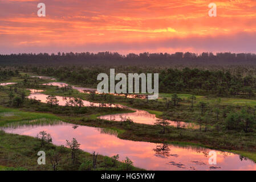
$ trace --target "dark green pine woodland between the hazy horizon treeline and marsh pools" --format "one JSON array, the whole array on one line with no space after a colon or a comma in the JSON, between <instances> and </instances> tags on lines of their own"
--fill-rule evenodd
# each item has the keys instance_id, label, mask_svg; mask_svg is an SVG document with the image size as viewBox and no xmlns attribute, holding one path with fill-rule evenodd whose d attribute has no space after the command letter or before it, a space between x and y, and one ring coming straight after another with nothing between
<instances>
[{"instance_id":1,"label":"dark green pine woodland between the hazy horizon treeline and marsh pools","mask_svg":"<svg viewBox=\"0 0 256 182\"><path fill-rule=\"evenodd\" d=\"M3 68L2 72L10 68ZM68 81L72 84L91 86L96 88L97 75L109 74L107 67L26 67L16 69L23 72L32 72L37 75L46 75ZM245 69L246 70L246 69ZM241 68L235 70L207 70L198 68L116 68L116 73L159 73L160 93L193 93L217 96L252 97L256 93L256 78L250 73L241 72ZM14 73L13 73L14 74ZM3 78L1 78L3 79Z\"/></svg>"}]
</instances>

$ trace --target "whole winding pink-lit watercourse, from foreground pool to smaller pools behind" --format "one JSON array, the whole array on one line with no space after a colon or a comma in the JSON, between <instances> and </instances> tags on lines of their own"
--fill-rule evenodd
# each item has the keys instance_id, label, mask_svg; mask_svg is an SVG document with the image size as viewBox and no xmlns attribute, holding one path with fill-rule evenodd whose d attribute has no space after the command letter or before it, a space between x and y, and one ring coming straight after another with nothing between
<instances>
[{"instance_id":1,"label":"whole winding pink-lit watercourse, from foreground pool to smaller pools behind","mask_svg":"<svg viewBox=\"0 0 256 182\"><path fill-rule=\"evenodd\" d=\"M64 83L62 83L64 84ZM0 84L1 85L1 84ZM59 85L56 85L59 86ZM74 88L74 87L73 87ZM75 88L74 88L75 89ZM79 88L83 91L83 88ZM80 92L79 91L79 92ZM36 97L41 102L46 102L46 94L43 90L30 89L29 98ZM72 97L56 96L59 105L66 105L66 101ZM99 103L84 101L85 106L99 106ZM126 107L115 105L117 107ZM155 114L147 111L133 109L134 113L104 115L100 118L120 121L121 117L129 117L133 122L153 124L156 121ZM192 127L182 122L183 127ZM172 121L171 125L177 126L177 122ZM65 145L66 140L76 138L81 144L80 148L88 152L99 152L101 155L113 156L120 155L120 160L128 156L134 166L149 170L256 170L256 164L249 159L237 154L210 150L209 148L196 146L177 146L173 144L156 144L150 142L135 142L117 138L114 130L101 129L89 126L78 126L62 121L47 122L15 122L2 127L6 133L29 135L36 137L40 131L51 134L52 142L56 145ZM209 151L217 154L217 164L209 164Z\"/></svg>"}]
</instances>

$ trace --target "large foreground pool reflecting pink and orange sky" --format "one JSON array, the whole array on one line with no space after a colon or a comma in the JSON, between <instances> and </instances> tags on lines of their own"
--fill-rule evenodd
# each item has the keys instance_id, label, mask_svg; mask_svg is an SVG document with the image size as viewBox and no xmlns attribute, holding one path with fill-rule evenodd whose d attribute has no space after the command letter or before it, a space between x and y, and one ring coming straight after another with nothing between
<instances>
[{"instance_id":1,"label":"large foreground pool reflecting pink and orange sky","mask_svg":"<svg viewBox=\"0 0 256 182\"><path fill-rule=\"evenodd\" d=\"M208 164L210 149L202 147L180 147L169 145L169 156L163 158L161 155L156 156L153 150L156 143L134 142L123 140L115 135L104 134L94 127L78 126L73 129L70 123L55 126L36 126L20 127L18 129L5 129L8 133L30 135L35 137L40 131L44 130L50 133L54 144L66 144L66 139L76 138L81 143L80 148L88 152L99 152L101 155L113 156L120 155L120 160L128 156L136 167L152 170L188 170L194 167L197 170L209 170ZM205 154L203 153L205 152ZM172 156L176 155L176 156ZM193 162L194 161L194 162ZM178 168L169 162L184 164L185 168ZM196 163L197 162L197 163ZM201 163L201 165L200 165ZM256 170L256 164L251 160L239 160L239 155L217 151L217 165L221 170ZM212 169L213 170L213 169Z\"/></svg>"}]
</instances>

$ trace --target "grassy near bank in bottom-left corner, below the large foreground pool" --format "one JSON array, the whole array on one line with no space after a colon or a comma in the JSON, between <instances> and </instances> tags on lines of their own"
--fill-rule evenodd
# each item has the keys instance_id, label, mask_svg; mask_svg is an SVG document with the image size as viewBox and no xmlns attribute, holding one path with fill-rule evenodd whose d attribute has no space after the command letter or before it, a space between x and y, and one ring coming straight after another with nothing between
<instances>
[{"instance_id":1,"label":"grassy near bank in bottom-left corner, below the large foreground pool","mask_svg":"<svg viewBox=\"0 0 256 182\"><path fill-rule=\"evenodd\" d=\"M38 151L46 152L46 165L38 165ZM127 165L113 161L108 156L97 156L96 168L92 164L92 154L79 150L78 160L73 164L71 150L64 146L48 144L40 148L40 140L17 134L7 134L0 130L0 170L53 170L50 162L50 151L58 151L60 161L58 170L126 170ZM141 170L129 166L129 170Z\"/></svg>"}]
</instances>

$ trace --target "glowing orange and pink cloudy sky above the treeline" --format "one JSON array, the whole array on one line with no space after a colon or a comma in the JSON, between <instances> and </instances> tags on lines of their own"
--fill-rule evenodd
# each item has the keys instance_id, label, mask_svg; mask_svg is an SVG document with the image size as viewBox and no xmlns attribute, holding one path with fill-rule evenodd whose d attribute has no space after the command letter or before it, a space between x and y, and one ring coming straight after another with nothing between
<instances>
[{"instance_id":1,"label":"glowing orange and pink cloudy sky above the treeline","mask_svg":"<svg viewBox=\"0 0 256 182\"><path fill-rule=\"evenodd\" d=\"M255 17L255 0L0 0L0 53L255 53Z\"/></svg>"}]
</instances>

